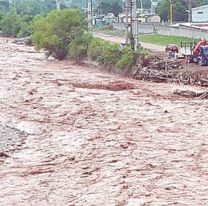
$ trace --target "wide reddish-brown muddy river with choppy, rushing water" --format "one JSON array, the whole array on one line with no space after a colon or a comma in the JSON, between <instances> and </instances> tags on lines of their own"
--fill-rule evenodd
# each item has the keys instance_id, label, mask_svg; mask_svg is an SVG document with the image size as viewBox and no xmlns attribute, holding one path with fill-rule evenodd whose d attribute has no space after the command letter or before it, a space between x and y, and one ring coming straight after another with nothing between
<instances>
[{"instance_id":1,"label":"wide reddish-brown muddy river with choppy, rushing water","mask_svg":"<svg viewBox=\"0 0 208 206\"><path fill-rule=\"evenodd\" d=\"M0 205L208 205L205 89L0 46Z\"/></svg>"}]
</instances>

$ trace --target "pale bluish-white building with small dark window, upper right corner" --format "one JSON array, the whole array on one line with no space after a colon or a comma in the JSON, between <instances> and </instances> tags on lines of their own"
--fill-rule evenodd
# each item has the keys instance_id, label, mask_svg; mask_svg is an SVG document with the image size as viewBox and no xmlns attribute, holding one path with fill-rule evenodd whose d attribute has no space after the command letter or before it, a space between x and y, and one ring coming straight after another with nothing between
<instances>
[{"instance_id":1,"label":"pale bluish-white building with small dark window, upper right corner","mask_svg":"<svg viewBox=\"0 0 208 206\"><path fill-rule=\"evenodd\" d=\"M208 22L208 4L192 8L192 21L193 22Z\"/></svg>"}]
</instances>

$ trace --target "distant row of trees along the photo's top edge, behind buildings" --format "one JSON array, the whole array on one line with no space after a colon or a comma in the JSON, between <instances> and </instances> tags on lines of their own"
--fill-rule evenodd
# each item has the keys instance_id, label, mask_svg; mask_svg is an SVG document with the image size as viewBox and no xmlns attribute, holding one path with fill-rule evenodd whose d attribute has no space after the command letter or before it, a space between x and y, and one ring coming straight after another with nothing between
<instances>
[{"instance_id":1,"label":"distant row of trees along the photo's top edge, behind buildings","mask_svg":"<svg viewBox=\"0 0 208 206\"><path fill-rule=\"evenodd\" d=\"M138 8L141 7L141 1L144 9L150 9L151 0L138 0ZM170 16L169 2L170 0L158 0L157 14L161 19L167 21ZM192 7L204 5L208 0L190 0ZM173 4L173 20L186 21L188 18L188 2L189 0L172 0ZM0 0L0 13L6 13L9 9L14 8L17 14L21 15L37 15L46 14L58 7L60 8L87 8L87 0ZM123 9L123 0L93 0L93 7L97 14L114 13L118 16Z\"/></svg>"}]
</instances>

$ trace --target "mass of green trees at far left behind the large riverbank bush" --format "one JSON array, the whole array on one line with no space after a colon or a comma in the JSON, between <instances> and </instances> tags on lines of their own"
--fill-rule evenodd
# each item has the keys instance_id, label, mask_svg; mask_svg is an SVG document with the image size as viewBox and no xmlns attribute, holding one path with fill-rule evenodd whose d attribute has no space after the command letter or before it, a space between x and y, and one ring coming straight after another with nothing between
<instances>
[{"instance_id":1,"label":"mass of green trees at far left behind the large riverbank bush","mask_svg":"<svg viewBox=\"0 0 208 206\"><path fill-rule=\"evenodd\" d=\"M4 36L24 37L33 32L38 16L66 7L83 6L85 0L0 0L0 31Z\"/></svg>"}]
</instances>

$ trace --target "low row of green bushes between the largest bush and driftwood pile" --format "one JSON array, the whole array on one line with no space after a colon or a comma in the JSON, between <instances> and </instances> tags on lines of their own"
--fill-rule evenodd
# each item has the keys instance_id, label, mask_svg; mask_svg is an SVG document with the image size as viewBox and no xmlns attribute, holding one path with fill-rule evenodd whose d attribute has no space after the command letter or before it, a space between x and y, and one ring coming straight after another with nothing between
<instances>
[{"instance_id":1,"label":"low row of green bushes between the largest bush and driftwood pile","mask_svg":"<svg viewBox=\"0 0 208 206\"><path fill-rule=\"evenodd\" d=\"M120 71L131 70L138 58L149 54L144 51L146 50L141 50L138 54L134 54L130 47L121 50L118 44L110 43L100 38L93 38L89 34L84 34L69 44L69 58L76 61L87 58L104 65L106 68Z\"/></svg>"}]
</instances>

